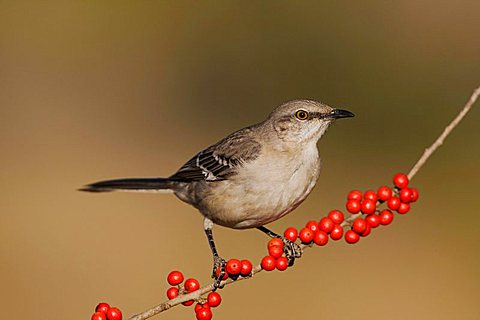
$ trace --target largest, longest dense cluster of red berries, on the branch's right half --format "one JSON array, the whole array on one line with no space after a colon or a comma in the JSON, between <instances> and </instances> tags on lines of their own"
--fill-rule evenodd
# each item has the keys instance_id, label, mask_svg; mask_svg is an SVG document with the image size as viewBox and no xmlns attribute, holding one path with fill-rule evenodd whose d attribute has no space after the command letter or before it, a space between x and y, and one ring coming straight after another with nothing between
<instances>
[{"instance_id":1,"label":"largest, longest dense cluster of red berries, on the branch's right half","mask_svg":"<svg viewBox=\"0 0 480 320\"><path fill-rule=\"evenodd\" d=\"M393 177L394 187L381 186L377 192L368 190L362 193L359 190L351 191L347 196L346 209L349 216L340 210L332 210L320 221L308 221L305 227L298 231L289 227L283 233L285 239L295 242L300 239L302 244L324 246L329 239L340 240L345 238L349 244L357 243L361 237L366 237L372 229L380 225L389 225L393 221L393 211L405 214L410 211L410 204L417 201L418 191L408 187L408 177L397 173ZM380 209L382 204L387 208ZM344 231L346 229L346 231ZM288 267L283 255L283 242L280 239L271 239L268 242L269 255L261 261L266 271L275 268L283 271Z\"/></svg>"}]
</instances>

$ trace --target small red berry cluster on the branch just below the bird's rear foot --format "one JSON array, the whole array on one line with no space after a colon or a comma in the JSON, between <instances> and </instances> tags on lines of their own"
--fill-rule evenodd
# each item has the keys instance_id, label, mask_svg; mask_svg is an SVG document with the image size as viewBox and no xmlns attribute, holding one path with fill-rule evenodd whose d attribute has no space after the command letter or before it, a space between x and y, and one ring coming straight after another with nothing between
<instances>
[{"instance_id":1,"label":"small red berry cluster on the branch just below the bird's rear foot","mask_svg":"<svg viewBox=\"0 0 480 320\"><path fill-rule=\"evenodd\" d=\"M232 259L233 260L233 259ZM251 265L251 264L250 264ZM250 269L251 271L251 269ZM187 294L200 289L200 283L197 279L189 278L183 283L184 277L180 271L172 271L167 276L167 282L172 287L167 290L168 299L175 299L179 294ZM182 285L183 283L183 285ZM200 298L195 305L195 316L198 320L212 319L211 308L218 307L222 302L222 297L218 292L210 292L206 298ZM185 301L184 306L191 306L194 300Z\"/></svg>"}]
</instances>

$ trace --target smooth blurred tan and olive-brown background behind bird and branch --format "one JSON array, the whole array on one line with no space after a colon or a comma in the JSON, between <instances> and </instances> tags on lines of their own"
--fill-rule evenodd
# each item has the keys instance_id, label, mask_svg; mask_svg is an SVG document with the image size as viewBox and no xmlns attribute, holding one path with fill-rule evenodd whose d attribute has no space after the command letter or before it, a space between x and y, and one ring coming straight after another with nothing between
<instances>
[{"instance_id":1,"label":"smooth blurred tan and olive-brown background behind bird and branch","mask_svg":"<svg viewBox=\"0 0 480 320\"><path fill-rule=\"evenodd\" d=\"M408 171L480 85L478 1L1 1L0 305L20 319L126 316L166 274L209 281L202 219L170 195L85 194L171 174L195 152L312 98L349 109L320 143L301 227ZM479 319L480 105L413 184L411 213L358 245L222 290L215 319ZM266 237L217 227L225 258ZM158 319L194 319L175 308Z\"/></svg>"}]
</instances>

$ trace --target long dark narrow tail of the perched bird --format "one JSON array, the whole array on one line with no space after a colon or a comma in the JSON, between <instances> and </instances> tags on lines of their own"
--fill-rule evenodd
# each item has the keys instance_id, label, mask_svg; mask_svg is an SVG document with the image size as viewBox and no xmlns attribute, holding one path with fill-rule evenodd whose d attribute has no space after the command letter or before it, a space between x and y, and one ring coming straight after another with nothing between
<instances>
[{"instance_id":1,"label":"long dark narrow tail of the perched bird","mask_svg":"<svg viewBox=\"0 0 480 320\"><path fill-rule=\"evenodd\" d=\"M88 184L80 191L87 192L110 192L110 191L137 191L137 192L161 192L168 191L173 182L166 178L130 178L98 181Z\"/></svg>"}]
</instances>

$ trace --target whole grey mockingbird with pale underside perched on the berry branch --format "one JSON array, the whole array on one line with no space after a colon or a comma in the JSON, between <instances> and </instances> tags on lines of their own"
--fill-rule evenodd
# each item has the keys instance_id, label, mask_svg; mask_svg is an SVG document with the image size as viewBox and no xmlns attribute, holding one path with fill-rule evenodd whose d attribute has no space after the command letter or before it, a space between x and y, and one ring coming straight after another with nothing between
<instances>
[{"instance_id":1,"label":"whole grey mockingbird with pale underside perched on the berry branch","mask_svg":"<svg viewBox=\"0 0 480 320\"><path fill-rule=\"evenodd\" d=\"M228 228L264 227L295 209L312 191L320 173L317 141L335 119L353 117L312 100L278 106L260 123L238 130L199 152L168 178L133 178L95 182L82 191L172 191L204 216L204 229L214 258L216 286L224 274L212 236L213 224ZM293 264L298 245L283 239ZM215 271L221 269L220 274Z\"/></svg>"}]
</instances>

